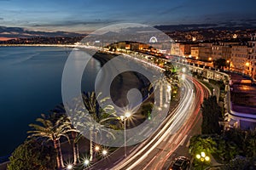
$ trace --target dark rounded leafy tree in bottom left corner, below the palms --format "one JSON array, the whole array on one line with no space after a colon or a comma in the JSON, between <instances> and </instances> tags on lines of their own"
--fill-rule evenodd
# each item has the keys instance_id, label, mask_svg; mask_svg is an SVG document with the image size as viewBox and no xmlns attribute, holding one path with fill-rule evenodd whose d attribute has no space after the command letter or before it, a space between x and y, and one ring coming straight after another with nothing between
<instances>
[{"instance_id":1,"label":"dark rounded leafy tree in bottom left corner, below the palms","mask_svg":"<svg viewBox=\"0 0 256 170\"><path fill-rule=\"evenodd\" d=\"M9 157L9 170L55 169L56 152L50 144L37 139L26 140Z\"/></svg>"}]
</instances>

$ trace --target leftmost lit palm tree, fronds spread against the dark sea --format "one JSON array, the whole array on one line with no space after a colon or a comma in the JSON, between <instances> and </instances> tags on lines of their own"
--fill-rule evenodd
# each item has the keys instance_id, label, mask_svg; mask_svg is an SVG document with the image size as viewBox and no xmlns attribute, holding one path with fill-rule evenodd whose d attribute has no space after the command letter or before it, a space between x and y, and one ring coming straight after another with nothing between
<instances>
[{"instance_id":1,"label":"leftmost lit palm tree, fronds spread against the dark sea","mask_svg":"<svg viewBox=\"0 0 256 170\"><path fill-rule=\"evenodd\" d=\"M56 121L53 121L52 117L46 117L42 114L43 118L38 118L36 121L41 123L42 125L38 124L30 124L29 126L32 127L33 131L28 131L27 133L32 133L32 135L28 136L28 138L38 137L44 138L47 140L53 141L55 150L57 152L56 161L57 161L57 168L61 169L64 167L62 153L61 153L61 143L60 139L61 136L67 138L69 141L68 132L73 131L70 127L70 122L67 122L67 117L61 116Z\"/></svg>"}]
</instances>

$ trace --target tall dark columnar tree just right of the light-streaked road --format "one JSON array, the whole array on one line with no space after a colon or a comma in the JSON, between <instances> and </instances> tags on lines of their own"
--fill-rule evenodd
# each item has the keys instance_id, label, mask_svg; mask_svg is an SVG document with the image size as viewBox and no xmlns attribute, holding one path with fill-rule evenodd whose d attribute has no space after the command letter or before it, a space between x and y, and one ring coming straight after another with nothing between
<instances>
[{"instance_id":1,"label":"tall dark columnar tree just right of the light-streaked road","mask_svg":"<svg viewBox=\"0 0 256 170\"><path fill-rule=\"evenodd\" d=\"M202 134L220 133L220 126L218 124L219 117L222 116L221 108L218 106L216 96L211 96L208 99L204 99L201 105Z\"/></svg>"}]
</instances>

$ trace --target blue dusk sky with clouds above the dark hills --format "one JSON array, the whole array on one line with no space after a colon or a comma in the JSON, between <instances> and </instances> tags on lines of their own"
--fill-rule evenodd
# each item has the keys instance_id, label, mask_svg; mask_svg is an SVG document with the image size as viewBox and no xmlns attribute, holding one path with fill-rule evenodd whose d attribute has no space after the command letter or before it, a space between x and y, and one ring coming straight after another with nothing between
<instances>
[{"instance_id":1,"label":"blue dusk sky with clouds above the dark hills","mask_svg":"<svg viewBox=\"0 0 256 170\"><path fill-rule=\"evenodd\" d=\"M255 6L255 0L0 0L0 26L83 33L127 22L212 24L256 20Z\"/></svg>"}]
</instances>

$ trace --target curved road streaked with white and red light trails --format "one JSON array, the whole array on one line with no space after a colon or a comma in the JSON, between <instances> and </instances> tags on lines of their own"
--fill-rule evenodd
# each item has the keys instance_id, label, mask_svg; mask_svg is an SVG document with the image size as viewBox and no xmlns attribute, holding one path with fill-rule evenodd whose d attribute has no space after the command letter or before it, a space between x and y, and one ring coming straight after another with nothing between
<instances>
[{"instance_id":1,"label":"curved road streaked with white and red light trails","mask_svg":"<svg viewBox=\"0 0 256 170\"><path fill-rule=\"evenodd\" d=\"M183 83L181 102L166 118L159 132L111 169L162 169L167 159L183 144L191 128L199 121L201 102L208 95L206 87L187 77Z\"/></svg>"}]
</instances>

